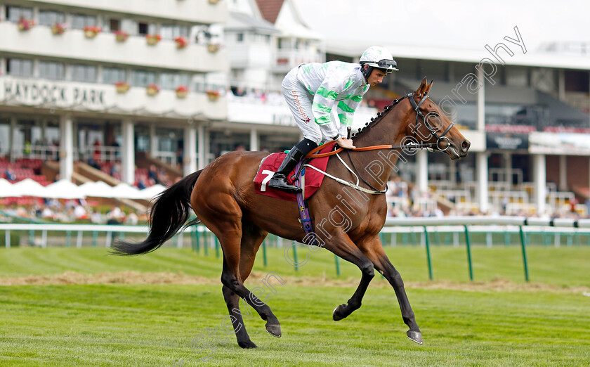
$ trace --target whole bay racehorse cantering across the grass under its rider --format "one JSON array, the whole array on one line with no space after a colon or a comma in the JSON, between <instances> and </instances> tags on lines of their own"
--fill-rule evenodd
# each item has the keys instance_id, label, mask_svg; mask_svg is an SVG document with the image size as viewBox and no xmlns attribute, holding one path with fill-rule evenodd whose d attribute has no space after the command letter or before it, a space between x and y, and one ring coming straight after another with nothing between
<instances>
[{"instance_id":1,"label":"whole bay racehorse cantering across the grass under its rider","mask_svg":"<svg viewBox=\"0 0 590 367\"><path fill-rule=\"evenodd\" d=\"M340 160L329 158L326 173L341 180L326 178L308 199L310 217L317 230L312 243L306 238L296 202L255 192L253 179L268 153L231 152L167 188L152 206L147 238L137 244L116 243L114 253L138 255L156 250L185 226L192 208L198 219L186 226L201 221L217 236L223 249L222 291L232 316L237 344L242 348L254 348L256 345L244 327L241 312L237 312L240 309L238 297L266 321L268 333L281 336L280 323L273 311L244 286L258 247L268 233L308 245L319 244L352 262L362 272L360 284L350 300L334 309L334 321L346 318L360 307L374 277L374 269L377 269L395 290L403 321L409 327L407 336L421 344L422 335L404 283L379 239L387 212L385 195L379 194L385 192L386 182L396 169L395 163L405 161L404 152L412 154L418 148L433 148L444 150L451 159L467 155L469 141L428 98L431 86L432 82L426 84L424 78L417 91L395 100L355 134L356 150L347 151L349 154ZM360 172L356 167L364 170ZM354 179L358 181L357 175L364 184L350 183ZM344 185L347 183L352 188ZM376 195L367 195L369 191ZM348 200L344 200L345 197ZM336 207L339 210L334 211Z\"/></svg>"}]
</instances>

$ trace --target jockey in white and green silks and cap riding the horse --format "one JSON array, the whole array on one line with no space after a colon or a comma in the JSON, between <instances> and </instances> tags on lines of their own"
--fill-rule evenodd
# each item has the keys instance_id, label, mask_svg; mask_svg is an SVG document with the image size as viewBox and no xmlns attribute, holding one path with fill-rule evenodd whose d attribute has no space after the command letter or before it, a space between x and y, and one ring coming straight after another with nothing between
<instances>
[{"instance_id":1,"label":"jockey in white and green silks and cap riding the horse","mask_svg":"<svg viewBox=\"0 0 590 367\"><path fill-rule=\"evenodd\" d=\"M387 74L398 70L396 66L389 51L372 46L360 56L360 65L330 61L301 64L292 69L283 79L282 94L303 133L303 140L291 148L268 186L301 191L287 183L287 174L322 142L333 140L342 148L355 148L353 141L346 139L346 128L353 123L355 110L369 86L381 83ZM332 120L334 107L340 124Z\"/></svg>"}]
</instances>

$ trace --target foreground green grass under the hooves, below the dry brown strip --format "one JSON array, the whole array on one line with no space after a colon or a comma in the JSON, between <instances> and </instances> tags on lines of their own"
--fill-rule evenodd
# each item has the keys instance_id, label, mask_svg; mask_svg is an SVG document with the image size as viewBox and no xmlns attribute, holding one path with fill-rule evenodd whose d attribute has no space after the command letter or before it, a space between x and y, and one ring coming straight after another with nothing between
<instances>
[{"instance_id":1,"label":"foreground green grass under the hooves, below the dry brown strip","mask_svg":"<svg viewBox=\"0 0 590 367\"><path fill-rule=\"evenodd\" d=\"M408 290L424 345L405 337L393 290L369 289L361 309L331 320L352 288L277 287L268 304L280 339L246 321L256 350L221 345L225 304L213 285L46 285L0 288L2 366L584 366L589 299L552 292ZM225 316L227 317L227 316Z\"/></svg>"}]
</instances>

